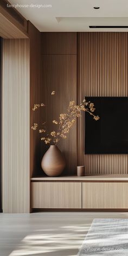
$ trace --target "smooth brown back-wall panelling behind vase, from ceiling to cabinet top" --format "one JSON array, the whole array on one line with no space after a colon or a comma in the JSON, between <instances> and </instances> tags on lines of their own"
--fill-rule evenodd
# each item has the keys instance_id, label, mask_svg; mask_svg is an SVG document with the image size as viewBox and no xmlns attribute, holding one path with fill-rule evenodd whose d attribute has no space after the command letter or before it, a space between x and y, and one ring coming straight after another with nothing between
<instances>
[{"instance_id":1,"label":"smooth brown back-wall panelling behind vase, from ceiling to cabinet top","mask_svg":"<svg viewBox=\"0 0 128 256\"><path fill-rule=\"evenodd\" d=\"M76 33L68 33L68 36L66 33L55 33L54 36L53 33L48 33L49 41L46 48L45 44L43 44L43 42L46 42L46 33L42 33L41 47L42 52L46 53L42 54L41 67L42 100L46 104L46 111L42 110L42 120L48 122L49 130L56 128L52 124L52 120L58 120L59 114L66 112L69 101L76 101ZM60 42L60 44L57 42ZM56 92L54 96L51 96L52 91ZM58 146L66 158L67 167L65 173L76 173L76 124L67 135L67 139L61 139ZM46 150L47 148L42 142L42 152L44 149Z\"/></svg>"}]
</instances>

